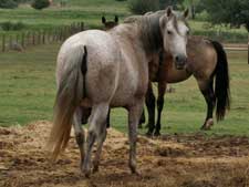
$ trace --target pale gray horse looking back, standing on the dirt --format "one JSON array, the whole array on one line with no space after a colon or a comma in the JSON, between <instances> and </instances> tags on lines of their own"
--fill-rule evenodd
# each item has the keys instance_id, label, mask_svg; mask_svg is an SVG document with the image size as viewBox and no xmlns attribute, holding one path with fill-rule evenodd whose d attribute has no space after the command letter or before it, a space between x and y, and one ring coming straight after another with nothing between
<instances>
[{"instance_id":1,"label":"pale gray horse looking back, standing on the dirt","mask_svg":"<svg viewBox=\"0 0 249 187\"><path fill-rule=\"evenodd\" d=\"M73 125L81 169L86 177L91 174L92 148L97 142L93 162L96 172L106 137L108 108L125 107L131 147L128 165L136 173L137 124L147 92L148 63L160 50L174 56L176 66L186 63L187 14L188 11L175 14L167 8L164 14L153 13L108 31L76 33L62 44L56 64L54 123L48 143L54 159L65 148ZM81 126L82 106L92 108L86 142Z\"/></svg>"}]
</instances>

